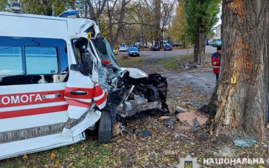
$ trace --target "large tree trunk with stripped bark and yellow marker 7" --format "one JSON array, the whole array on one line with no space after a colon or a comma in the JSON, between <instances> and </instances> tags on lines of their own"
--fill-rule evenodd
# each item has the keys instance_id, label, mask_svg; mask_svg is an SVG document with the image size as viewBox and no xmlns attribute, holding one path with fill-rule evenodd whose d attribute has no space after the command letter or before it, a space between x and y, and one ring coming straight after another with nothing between
<instances>
[{"instance_id":1,"label":"large tree trunk with stripped bark and yellow marker 7","mask_svg":"<svg viewBox=\"0 0 269 168\"><path fill-rule=\"evenodd\" d=\"M269 1L222 1L222 60L215 132L266 140ZM236 77L236 83L231 78Z\"/></svg>"}]
</instances>

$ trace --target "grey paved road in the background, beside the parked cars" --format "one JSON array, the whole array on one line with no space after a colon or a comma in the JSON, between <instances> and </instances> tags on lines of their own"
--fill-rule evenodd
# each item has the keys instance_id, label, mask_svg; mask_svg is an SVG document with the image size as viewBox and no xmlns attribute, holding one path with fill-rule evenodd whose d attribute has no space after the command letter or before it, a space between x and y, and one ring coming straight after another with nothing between
<instances>
[{"instance_id":1,"label":"grey paved road in the background, beside the parked cars","mask_svg":"<svg viewBox=\"0 0 269 168\"><path fill-rule=\"evenodd\" d=\"M180 49L180 50L172 50L172 51L140 51L140 57L146 58L162 58L162 57L173 57L175 55L183 55L187 53L193 52L193 48L189 49ZM206 53L214 53L216 52L216 47L206 46ZM128 55L128 52L119 52L119 55Z\"/></svg>"}]
</instances>

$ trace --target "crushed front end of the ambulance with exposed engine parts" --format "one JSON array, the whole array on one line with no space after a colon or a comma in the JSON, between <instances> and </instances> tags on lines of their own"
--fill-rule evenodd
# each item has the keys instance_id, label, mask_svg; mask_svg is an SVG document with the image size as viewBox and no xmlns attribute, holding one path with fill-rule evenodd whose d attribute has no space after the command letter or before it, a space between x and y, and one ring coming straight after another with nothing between
<instances>
[{"instance_id":1,"label":"crushed front end of the ambulance with exposed engine parts","mask_svg":"<svg viewBox=\"0 0 269 168\"><path fill-rule=\"evenodd\" d=\"M94 85L100 86L99 97L94 99L95 106L89 107L101 111L100 120L93 127L98 127L99 142L110 141L117 121L125 122L127 118L140 113L159 116L170 113L166 104L166 78L136 68L120 68L109 43L100 36L98 27L93 23L90 30L91 32L70 39L74 51L77 55L82 55L78 60L81 64L71 64L71 71L80 71ZM89 33L96 37L89 35L91 40L88 40L86 35ZM84 78L81 81L74 80L87 83Z\"/></svg>"}]
</instances>

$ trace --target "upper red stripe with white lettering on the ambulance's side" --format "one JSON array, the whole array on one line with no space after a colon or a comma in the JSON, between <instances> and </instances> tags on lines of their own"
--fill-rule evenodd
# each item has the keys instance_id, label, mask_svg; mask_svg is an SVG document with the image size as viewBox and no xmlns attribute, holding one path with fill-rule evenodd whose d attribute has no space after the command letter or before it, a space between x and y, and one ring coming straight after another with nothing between
<instances>
[{"instance_id":1,"label":"upper red stripe with white lettering on the ambulance's side","mask_svg":"<svg viewBox=\"0 0 269 168\"><path fill-rule=\"evenodd\" d=\"M0 95L0 108L65 101L63 93L64 90L56 90ZM47 94L61 94L62 96L52 99L43 99L43 96Z\"/></svg>"}]
</instances>

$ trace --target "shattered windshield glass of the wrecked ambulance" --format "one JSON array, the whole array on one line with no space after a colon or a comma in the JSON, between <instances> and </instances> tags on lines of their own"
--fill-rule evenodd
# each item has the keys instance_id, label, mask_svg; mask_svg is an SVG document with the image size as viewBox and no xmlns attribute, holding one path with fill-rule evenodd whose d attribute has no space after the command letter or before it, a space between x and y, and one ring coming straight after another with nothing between
<instances>
[{"instance_id":1,"label":"shattered windshield glass of the wrecked ambulance","mask_svg":"<svg viewBox=\"0 0 269 168\"><path fill-rule=\"evenodd\" d=\"M99 49L95 46L95 49L98 53L98 56L100 59L104 59L104 60L107 60L107 61L110 61L112 65L114 65L114 67L116 67L117 69L121 70L119 68L119 65L114 57L114 53L109 45L109 43L106 41L106 39L103 39L104 40L104 43L106 44L106 50L107 50L107 54L106 55L103 55Z\"/></svg>"}]
</instances>

